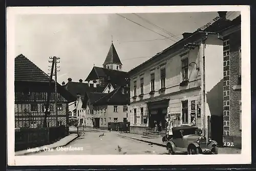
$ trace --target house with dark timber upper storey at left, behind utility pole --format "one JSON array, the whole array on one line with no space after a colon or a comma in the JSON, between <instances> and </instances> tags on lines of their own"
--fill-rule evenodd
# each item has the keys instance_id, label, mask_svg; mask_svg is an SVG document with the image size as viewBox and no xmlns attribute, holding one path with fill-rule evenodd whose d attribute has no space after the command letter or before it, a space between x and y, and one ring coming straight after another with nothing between
<instances>
[{"instance_id":1,"label":"house with dark timber upper storey at left, behind utility pole","mask_svg":"<svg viewBox=\"0 0 256 171\"><path fill-rule=\"evenodd\" d=\"M67 125L68 104L75 101L67 90L57 85L57 120L54 82L28 58L20 54L15 58L15 128L42 127L45 119L47 94L50 94L47 127Z\"/></svg>"}]
</instances>

